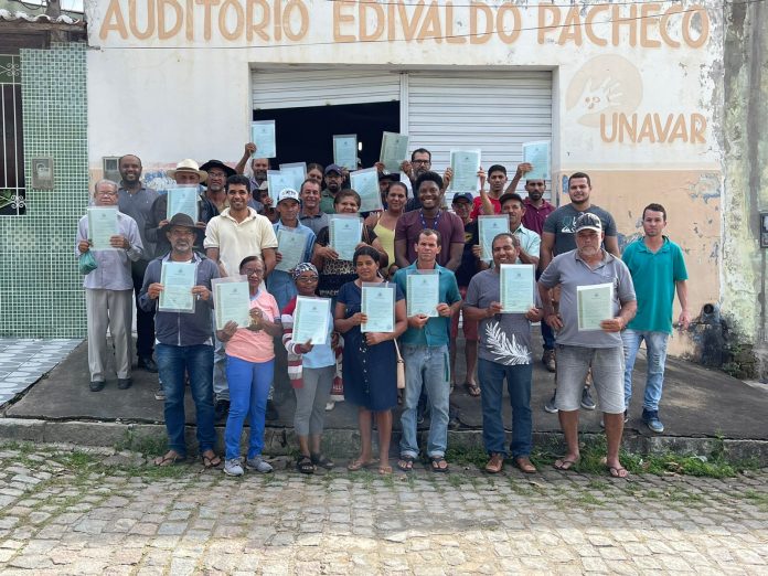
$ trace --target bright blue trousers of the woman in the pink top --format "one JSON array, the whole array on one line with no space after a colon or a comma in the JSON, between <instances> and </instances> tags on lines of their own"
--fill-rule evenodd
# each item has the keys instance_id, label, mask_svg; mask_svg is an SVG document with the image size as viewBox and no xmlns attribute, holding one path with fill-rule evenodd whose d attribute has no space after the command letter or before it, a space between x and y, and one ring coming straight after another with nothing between
<instances>
[{"instance_id":1,"label":"bright blue trousers of the woman in the pink top","mask_svg":"<svg viewBox=\"0 0 768 576\"><path fill-rule=\"evenodd\" d=\"M226 356L226 380L230 383L230 416L224 429L226 459L239 458L239 439L246 415L250 434L248 458L258 456L264 449L264 419L267 395L275 374L275 360L248 362Z\"/></svg>"}]
</instances>

